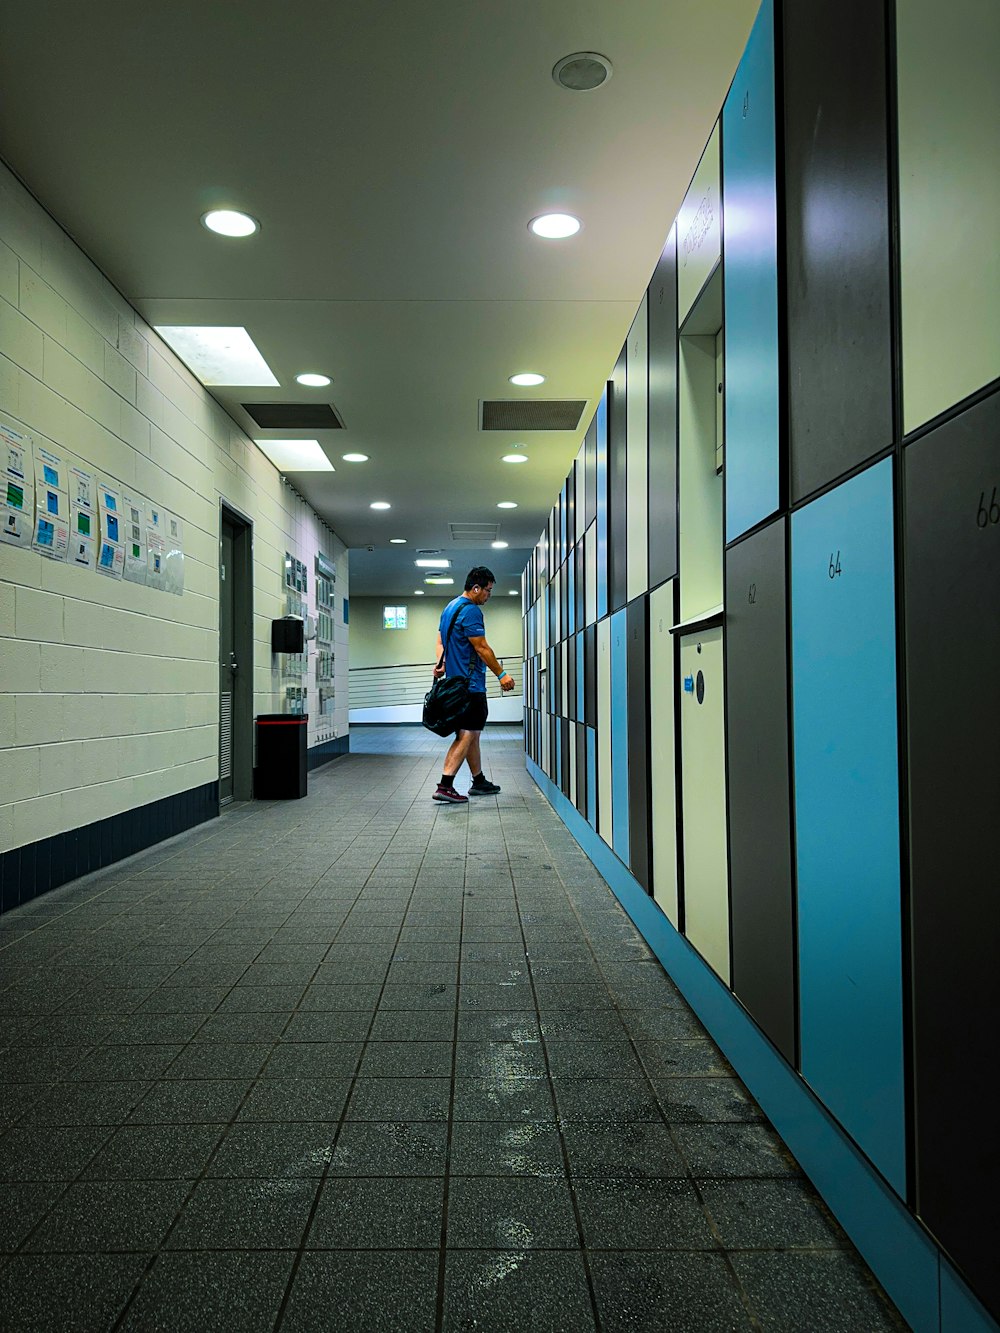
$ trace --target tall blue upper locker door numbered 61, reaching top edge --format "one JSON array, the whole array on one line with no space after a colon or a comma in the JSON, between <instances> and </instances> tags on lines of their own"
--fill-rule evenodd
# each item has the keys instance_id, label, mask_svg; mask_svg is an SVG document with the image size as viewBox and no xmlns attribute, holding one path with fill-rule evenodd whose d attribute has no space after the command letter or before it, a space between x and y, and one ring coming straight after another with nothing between
<instances>
[{"instance_id":1,"label":"tall blue upper locker door numbered 61, reaching top edge","mask_svg":"<svg viewBox=\"0 0 1000 1333\"><path fill-rule=\"evenodd\" d=\"M725 540L772 515L779 491L773 0L763 0L723 108Z\"/></svg>"}]
</instances>

